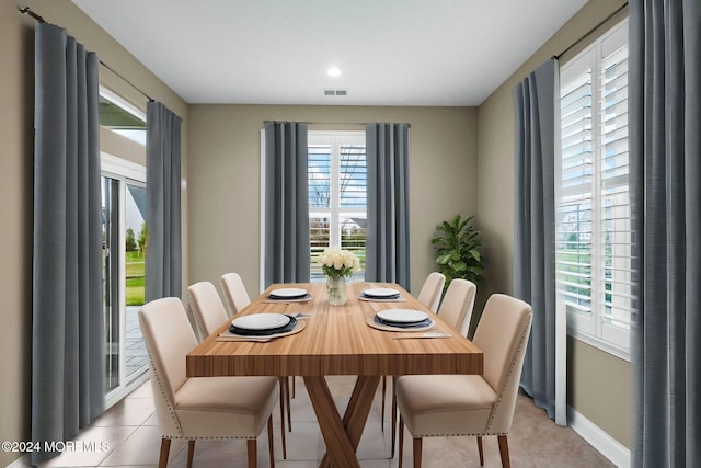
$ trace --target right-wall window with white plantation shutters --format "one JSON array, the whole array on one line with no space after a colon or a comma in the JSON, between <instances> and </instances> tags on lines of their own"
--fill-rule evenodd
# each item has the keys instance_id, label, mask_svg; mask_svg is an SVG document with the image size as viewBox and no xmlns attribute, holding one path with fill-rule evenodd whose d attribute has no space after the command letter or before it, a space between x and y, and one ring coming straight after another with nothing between
<instances>
[{"instance_id":1,"label":"right-wall window with white plantation shutters","mask_svg":"<svg viewBox=\"0 0 701 468\"><path fill-rule=\"evenodd\" d=\"M628 358L628 21L565 64L560 81L558 307L571 334Z\"/></svg>"}]
</instances>

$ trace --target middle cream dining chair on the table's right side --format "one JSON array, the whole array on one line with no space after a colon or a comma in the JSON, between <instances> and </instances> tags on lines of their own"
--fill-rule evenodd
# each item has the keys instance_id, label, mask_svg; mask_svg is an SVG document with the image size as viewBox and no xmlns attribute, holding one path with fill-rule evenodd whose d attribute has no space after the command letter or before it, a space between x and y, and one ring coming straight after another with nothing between
<instances>
[{"instance_id":1,"label":"middle cream dining chair on the table's right side","mask_svg":"<svg viewBox=\"0 0 701 468\"><path fill-rule=\"evenodd\" d=\"M443 285L440 287L443 288ZM470 329L470 320L472 319L472 309L474 308L476 293L478 287L474 283L468 279L455 278L450 281L443 303L440 303L440 307L438 308L440 318L452 328L459 330L463 336L468 335L468 330ZM394 457L394 441L397 440L397 378L392 380L392 448L390 448L390 456ZM382 410L382 414L384 414L384 410Z\"/></svg>"}]
</instances>

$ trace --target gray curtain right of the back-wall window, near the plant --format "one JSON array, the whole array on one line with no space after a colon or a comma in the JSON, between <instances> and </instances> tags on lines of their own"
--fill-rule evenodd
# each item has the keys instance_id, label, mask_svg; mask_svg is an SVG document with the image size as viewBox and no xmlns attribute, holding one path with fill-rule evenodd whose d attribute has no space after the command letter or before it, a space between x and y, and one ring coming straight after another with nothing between
<instances>
[{"instance_id":1,"label":"gray curtain right of the back-wall window, near the plant","mask_svg":"<svg viewBox=\"0 0 701 468\"><path fill-rule=\"evenodd\" d=\"M365 279L411 287L409 124L366 125L368 224Z\"/></svg>"}]
</instances>

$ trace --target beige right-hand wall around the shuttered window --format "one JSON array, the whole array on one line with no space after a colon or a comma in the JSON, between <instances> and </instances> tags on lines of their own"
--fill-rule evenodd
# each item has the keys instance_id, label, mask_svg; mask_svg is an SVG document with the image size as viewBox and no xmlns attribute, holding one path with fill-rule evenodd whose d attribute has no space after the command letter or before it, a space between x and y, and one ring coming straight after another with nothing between
<instances>
[{"instance_id":1,"label":"beige right-hand wall around the shuttered window","mask_svg":"<svg viewBox=\"0 0 701 468\"><path fill-rule=\"evenodd\" d=\"M481 106L479 115L478 218L487 259L480 298L513 290L514 246L514 111L512 90L530 71L559 55L625 3L621 0L590 0L533 56L506 80ZM600 32L605 31L607 24ZM600 34L599 32L599 34ZM589 42L597 33L589 36ZM572 58L587 41L562 61ZM595 422L618 442L630 447L630 364L610 354L568 340L567 403ZM583 350L586 350L583 351ZM593 380L604 385L593 385Z\"/></svg>"}]
</instances>

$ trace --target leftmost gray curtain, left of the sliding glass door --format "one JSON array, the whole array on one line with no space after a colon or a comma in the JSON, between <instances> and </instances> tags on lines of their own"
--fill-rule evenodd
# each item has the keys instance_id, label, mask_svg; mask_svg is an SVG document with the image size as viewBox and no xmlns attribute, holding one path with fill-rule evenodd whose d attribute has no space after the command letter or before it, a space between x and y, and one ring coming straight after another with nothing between
<instances>
[{"instance_id":1,"label":"leftmost gray curtain, left of the sliding glass door","mask_svg":"<svg viewBox=\"0 0 701 468\"><path fill-rule=\"evenodd\" d=\"M104 412L99 60L35 30L32 440L66 441ZM37 465L57 454L37 450Z\"/></svg>"}]
</instances>

